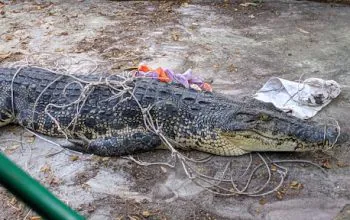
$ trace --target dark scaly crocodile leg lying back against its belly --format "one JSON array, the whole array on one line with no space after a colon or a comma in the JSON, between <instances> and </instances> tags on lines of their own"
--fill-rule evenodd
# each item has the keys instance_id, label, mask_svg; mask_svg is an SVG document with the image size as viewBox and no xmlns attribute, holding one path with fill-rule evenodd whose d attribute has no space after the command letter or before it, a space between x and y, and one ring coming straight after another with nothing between
<instances>
[{"instance_id":1,"label":"dark scaly crocodile leg lying back against its belly","mask_svg":"<svg viewBox=\"0 0 350 220\"><path fill-rule=\"evenodd\" d=\"M99 156L120 156L145 152L161 147L159 137L151 132L129 132L117 137L98 138L87 140L83 137L70 140L73 145L62 147L80 151L82 153Z\"/></svg>"}]
</instances>

